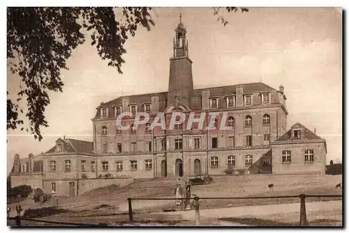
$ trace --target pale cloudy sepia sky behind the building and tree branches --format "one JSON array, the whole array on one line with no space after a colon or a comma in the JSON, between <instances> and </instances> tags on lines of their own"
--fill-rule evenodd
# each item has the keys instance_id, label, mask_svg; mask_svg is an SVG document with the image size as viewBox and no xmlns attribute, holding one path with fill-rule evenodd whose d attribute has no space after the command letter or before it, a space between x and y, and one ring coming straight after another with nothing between
<instances>
[{"instance_id":1,"label":"pale cloudy sepia sky behind the building and tree branches","mask_svg":"<svg viewBox=\"0 0 349 233\"><path fill-rule=\"evenodd\" d=\"M140 28L126 42L126 63L107 67L88 39L61 72L64 93L50 93L43 140L8 131L8 169L13 156L39 154L64 135L92 141L96 107L121 95L168 90L174 29L186 26L194 88L262 81L285 87L288 128L300 122L327 140L327 163L342 158L342 16L336 8L249 8L224 14L211 8L154 8L155 26ZM11 97L18 77L8 73ZM25 103L23 103L25 104Z\"/></svg>"}]
</instances>

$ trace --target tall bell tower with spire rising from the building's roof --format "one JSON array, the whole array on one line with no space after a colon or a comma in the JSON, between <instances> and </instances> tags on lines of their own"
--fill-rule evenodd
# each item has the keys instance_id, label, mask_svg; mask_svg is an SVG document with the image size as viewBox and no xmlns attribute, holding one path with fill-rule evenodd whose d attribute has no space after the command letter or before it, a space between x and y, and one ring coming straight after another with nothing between
<instances>
[{"instance_id":1,"label":"tall bell tower with spire rising from the building's roof","mask_svg":"<svg viewBox=\"0 0 349 233\"><path fill-rule=\"evenodd\" d=\"M168 84L168 106L174 103L176 95L178 101L191 107L191 96L193 94L193 74L189 58L188 40L186 40L186 28L181 22L174 30L173 57L170 58L170 80Z\"/></svg>"}]
</instances>

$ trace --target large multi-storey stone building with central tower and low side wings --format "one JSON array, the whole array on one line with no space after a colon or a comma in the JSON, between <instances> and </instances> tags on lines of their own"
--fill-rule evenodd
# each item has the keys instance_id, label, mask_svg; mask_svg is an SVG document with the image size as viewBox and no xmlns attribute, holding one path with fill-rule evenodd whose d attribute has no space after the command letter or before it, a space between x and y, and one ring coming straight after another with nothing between
<instances>
[{"instance_id":1,"label":"large multi-storey stone building with central tower and low side wings","mask_svg":"<svg viewBox=\"0 0 349 233\"><path fill-rule=\"evenodd\" d=\"M247 173L325 172L325 140L299 123L286 129L283 86L276 90L264 83L245 83L194 89L188 51L186 29L180 22L168 92L101 103L92 119L93 143L59 139L41 155L43 188L56 191L60 184L63 193L77 194L82 174L96 179L221 175L227 168ZM140 112L149 113L150 120L137 129L121 130L117 118L126 112L131 116L122 118L124 126L132 125ZM169 129L172 113L177 112L184 113L186 121ZM158 113L164 113L166 129L151 127ZM191 113L195 119L205 113L204 127L195 122L187 128ZM206 129L210 122L216 129Z\"/></svg>"}]
</instances>

